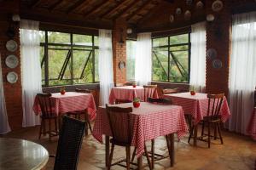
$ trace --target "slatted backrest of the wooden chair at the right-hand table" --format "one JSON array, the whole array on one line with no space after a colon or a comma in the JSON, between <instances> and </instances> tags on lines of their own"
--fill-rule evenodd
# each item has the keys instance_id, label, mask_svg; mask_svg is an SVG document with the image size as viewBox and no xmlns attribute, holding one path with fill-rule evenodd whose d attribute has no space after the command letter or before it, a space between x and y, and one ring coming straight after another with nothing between
<instances>
[{"instance_id":1,"label":"slatted backrest of the wooden chair at the right-hand table","mask_svg":"<svg viewBox=\"0 0 256 170\"><path fill-rule=\"evenodd\" d=\"M208 110L207 116L209 120L214 121L219 119L220 109L223 104L224 94L207 94Z\"/></svg>"}]
</instances>

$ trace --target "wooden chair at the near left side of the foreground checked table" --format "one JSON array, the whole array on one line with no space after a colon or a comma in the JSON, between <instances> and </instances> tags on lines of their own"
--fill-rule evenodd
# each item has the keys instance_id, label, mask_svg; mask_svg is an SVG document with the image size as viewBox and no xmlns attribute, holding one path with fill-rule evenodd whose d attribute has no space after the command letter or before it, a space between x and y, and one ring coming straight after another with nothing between
<instances>
[{"instance_id":1,"label":"wooden chair at the near left side of the foreground checked table","mask_svg":"<svg viewBox=\"0 0 256 170\"><path fill-rule=\"evenodd\" d=\"M132 128L131 128L131 112L132 108L120 108L120 107L109 107L106 105L106 111L108 115L108 122L110 129L113 135L113 138L110 139L111 151L108 162L108 170L111 166L119 165L121 167L126 167L130 169L130 164L136 165L133 162L130 162L131 154L131 137L132 137ZM115 145L124 146L126 152L126 159L117 161L112 164L113 159L113 149ZM145 153L148 160L148 166L151 169L151 163L148 156L148 150L145 145ZM136 149L135 149L136 150ZM135 151L134 151L135 152ZM120 164L121 162L126 161L126 166Z\"/></svg>"}]
</instances>

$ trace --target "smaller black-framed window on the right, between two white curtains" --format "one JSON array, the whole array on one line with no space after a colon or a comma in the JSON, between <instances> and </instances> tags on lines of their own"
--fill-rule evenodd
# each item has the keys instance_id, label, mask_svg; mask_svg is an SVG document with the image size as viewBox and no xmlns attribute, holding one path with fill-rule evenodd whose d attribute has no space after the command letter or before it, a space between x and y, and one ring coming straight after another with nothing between
<instances>
[{"instance_id":1,"label":"smaller black-framed window on the right, between two white curtains","mask_svg":"<svg viewBox=\"0 0 256 170\"><path fill-rule=\"evenodd\" d=\"M152 80L189 82L190 34L152 39Z\"/></svg>"}]
</instances>

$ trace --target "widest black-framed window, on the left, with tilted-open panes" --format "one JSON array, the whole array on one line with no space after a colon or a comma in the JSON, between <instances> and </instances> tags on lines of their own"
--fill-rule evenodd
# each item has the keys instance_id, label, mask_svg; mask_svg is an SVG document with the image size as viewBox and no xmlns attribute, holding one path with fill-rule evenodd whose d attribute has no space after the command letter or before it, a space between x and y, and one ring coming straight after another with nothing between
<instances>
[{"instance_id":1,"label":"widest black-framed window, on the left, with tilted-open panes","mask_svg":"<svg viewBox=\"0 0 256 170\"><path fill-rule=\"evenodd\" d=\"M40 31L43 86L98 82L98 37Z\"/></svg>"}]
</instances>

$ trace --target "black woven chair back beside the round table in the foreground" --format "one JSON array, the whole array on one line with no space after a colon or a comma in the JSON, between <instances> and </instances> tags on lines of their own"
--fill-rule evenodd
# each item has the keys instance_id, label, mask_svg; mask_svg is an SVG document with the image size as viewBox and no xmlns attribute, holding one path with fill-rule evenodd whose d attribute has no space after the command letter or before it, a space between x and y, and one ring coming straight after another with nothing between
<instances>
[{"instance_id":1,"label":"black woven chair back beside the round table in the foreground","mask_svg":"<svg viewBox=\"0 0 256 170\"><path fill-rule=\"evenodd\" d=\"M85 122L68 116L63 116L60 138L55 156L55 170L77 169L85 127Z\"/></svg>"}]
</instances>

